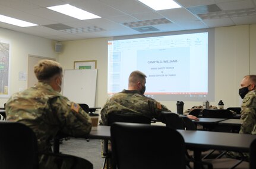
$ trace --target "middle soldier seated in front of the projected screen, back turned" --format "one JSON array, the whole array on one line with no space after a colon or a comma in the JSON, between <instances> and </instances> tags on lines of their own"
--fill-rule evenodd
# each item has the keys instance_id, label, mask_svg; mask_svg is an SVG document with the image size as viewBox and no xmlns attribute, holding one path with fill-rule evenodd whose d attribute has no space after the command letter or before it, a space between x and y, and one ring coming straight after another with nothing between
<instances>
[{"instance_id":1,"label":"middle soldier seated in front of the projected screen, back turned","mask_svg":"<svg viewBox=\"0 0 256 169\"><path fill-rule=\"evenodd\" d=\"M152 98L144 96L146 90L146 75L141 71L132 71L129 76L128 90L122 90L107 100L101 111L103 125L108 124L108 113L119 112L123 114L143 115L149 119L159 119L160 112L170 112L166 106L161 105ZM198 120L197 117L188 115L188 118Z\"/></svg>"}]
</instances>

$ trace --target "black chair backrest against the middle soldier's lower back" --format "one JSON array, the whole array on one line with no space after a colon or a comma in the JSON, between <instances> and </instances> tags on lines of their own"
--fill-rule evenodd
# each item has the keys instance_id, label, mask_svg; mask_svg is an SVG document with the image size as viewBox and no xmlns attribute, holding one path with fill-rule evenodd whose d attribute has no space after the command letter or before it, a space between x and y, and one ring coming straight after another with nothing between
<instances>
[{"instance_id":1,"label":"black chair backrest against the middle soldier's lower back","mask_svg":"<svg viewBox=\"0 0 256 169\"><path fill-rule=\"evenodd\" d=\"M151 119L141 115L127 115L120 114L118 112L108 113L108 125L112 125L113 122L129 122L138 124L150 124Z\"/></svg>"}]
</instances>

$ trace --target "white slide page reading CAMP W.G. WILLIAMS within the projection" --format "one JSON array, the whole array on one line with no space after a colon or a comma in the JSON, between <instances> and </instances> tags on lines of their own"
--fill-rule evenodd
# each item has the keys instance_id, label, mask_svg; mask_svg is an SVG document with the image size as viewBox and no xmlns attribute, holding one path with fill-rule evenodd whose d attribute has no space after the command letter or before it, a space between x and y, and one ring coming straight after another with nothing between
<instances>
[{"instance_id":1,"label":"white slide page reading CAMP W.G. WILLIAMS within the projection","mask_svg":"<svg viewBox=\"0 0 256 169\"><path fill-rule=\"evenodd\" d=\"M138 51L137 67L147 75L147 94L188 91L189 79L184 76L189 60L188 47Z\"/></svg>"}]
</instances>

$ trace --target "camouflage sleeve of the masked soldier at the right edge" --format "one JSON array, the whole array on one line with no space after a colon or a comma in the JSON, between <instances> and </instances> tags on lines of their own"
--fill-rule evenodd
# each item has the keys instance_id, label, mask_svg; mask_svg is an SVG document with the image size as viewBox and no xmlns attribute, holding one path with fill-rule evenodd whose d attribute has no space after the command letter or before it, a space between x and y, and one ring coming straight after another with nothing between
<instances>
[{"instance_id":1,"label":"camouflage sleeve of the masked soldier at the right edge","mask_svg":"<svg viewBox=\"0 0 256 169\"><path fill-rule=\"evenodd\" d=\"M241 134L256 134L256 91L249 92L242 101Z\"/></svg>"}]
</instances>

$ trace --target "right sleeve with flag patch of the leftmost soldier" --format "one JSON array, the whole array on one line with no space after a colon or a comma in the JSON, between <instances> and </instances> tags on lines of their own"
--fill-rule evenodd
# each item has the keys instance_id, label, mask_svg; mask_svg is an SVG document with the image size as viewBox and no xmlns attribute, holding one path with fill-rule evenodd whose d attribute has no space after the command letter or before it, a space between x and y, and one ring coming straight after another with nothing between
<instances>
[{"instance_id":1,"label":"right sleeve with flag patch of the leftmost soldier","mask_svg":"<svg viewBox=\"0 0 256 169\"><path fill-rule=\"evenodd\" d=\"M78 104L63 96L53 98L50 101L62 126L61 132L74 137L81 137L90 133L90 116Z\"/></svg>"}]
</instances>

